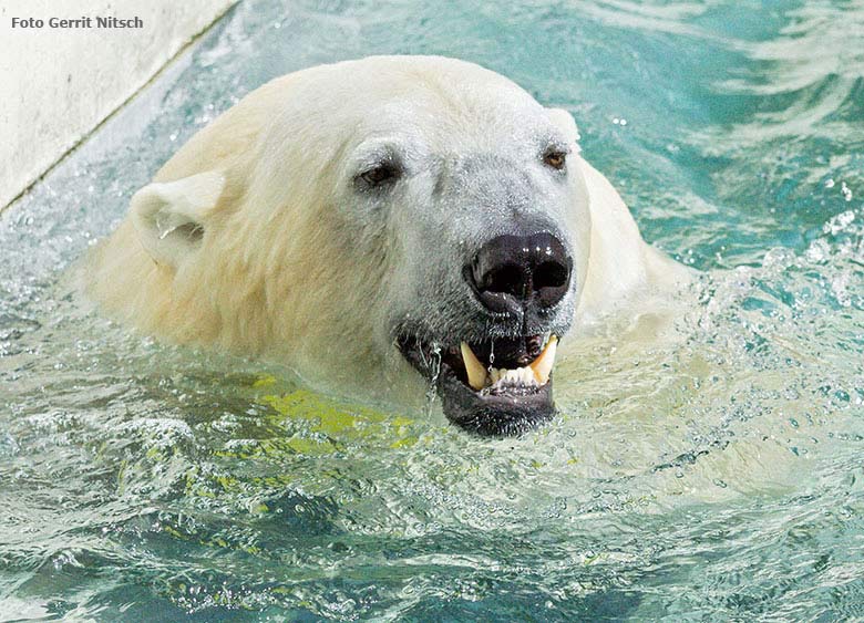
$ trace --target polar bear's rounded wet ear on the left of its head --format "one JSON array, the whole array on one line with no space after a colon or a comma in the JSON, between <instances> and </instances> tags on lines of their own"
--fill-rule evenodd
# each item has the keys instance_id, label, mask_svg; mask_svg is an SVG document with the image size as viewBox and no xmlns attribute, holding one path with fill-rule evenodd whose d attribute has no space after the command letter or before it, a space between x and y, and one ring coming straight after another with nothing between
<instances>
[{"instance_id":1,"label":"polar bear's rounded wet ear on the left of its head","mask_svg":"<svg viewBox=\"0 0 864 623\"><path fill-rule=\"evenodd\" d=\"M132 197L132 224L144 249L161 264L177 268L194 252L219 200L225 177L216 172L154 183Z\"/></svg>"}]
</instances>

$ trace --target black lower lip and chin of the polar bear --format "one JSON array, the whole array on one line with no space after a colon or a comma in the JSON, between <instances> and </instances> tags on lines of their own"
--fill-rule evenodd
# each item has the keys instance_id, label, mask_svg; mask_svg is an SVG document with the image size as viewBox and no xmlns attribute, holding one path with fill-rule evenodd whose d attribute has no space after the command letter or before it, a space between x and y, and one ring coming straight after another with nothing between
<instances>
[{"instance_id":1,"label":"black lower lip and chin of the polar bear","mask_svg":"<svg viewBox=\"0 0 864 623\"><path fill-rule=\"evenodd\" d=\"M461 428L483 436L516 436L549 422L555 416L553 380L522 392L481 394L464 380L446 357L435 357L416 336L403 334L399 350L414 368L435 385L444 415Z\"/></svg>"}]
</instances>

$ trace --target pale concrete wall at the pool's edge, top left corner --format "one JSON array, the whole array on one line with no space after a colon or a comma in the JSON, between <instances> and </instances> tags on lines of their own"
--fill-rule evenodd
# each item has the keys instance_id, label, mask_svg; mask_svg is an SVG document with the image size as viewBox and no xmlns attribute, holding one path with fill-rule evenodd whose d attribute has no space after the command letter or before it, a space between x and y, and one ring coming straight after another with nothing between
<instances>
[{"instance_id":1,"label":"pale concrete wall at the pool's edge, top left corner","mask_svg":"<svg viewBox=\"0 0 864 623\"><path fill-rule=\"evenodd\" d=\"M135 94L235 0L0 0L0 209ZM96 17L137 17L104 29ZM51 28L90 17L92 28ZM13 28L12 18L44 21Z\"/></svg>"}]
</instances>

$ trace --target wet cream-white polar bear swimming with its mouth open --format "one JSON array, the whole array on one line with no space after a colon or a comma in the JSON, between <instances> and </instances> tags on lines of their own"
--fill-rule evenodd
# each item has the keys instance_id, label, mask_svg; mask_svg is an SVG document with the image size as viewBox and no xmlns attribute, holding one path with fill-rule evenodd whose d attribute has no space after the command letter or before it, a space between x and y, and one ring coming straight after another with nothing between
<instances>
[{"instance_id":1,"label":"wet cream-white polar bear swimming with its mouth open","mask_svg":"<svg viewBox=\"0 0 864 623\"><path fill-rule=\"evenodd\" d=\"M573 117L440 56L298 71L198 132L88 259L164 340L416 404L480 434L554 413L559 340L683 279L579 154ZM569 334L568 334L569 332Z\"/></svg>"}]
</instances>

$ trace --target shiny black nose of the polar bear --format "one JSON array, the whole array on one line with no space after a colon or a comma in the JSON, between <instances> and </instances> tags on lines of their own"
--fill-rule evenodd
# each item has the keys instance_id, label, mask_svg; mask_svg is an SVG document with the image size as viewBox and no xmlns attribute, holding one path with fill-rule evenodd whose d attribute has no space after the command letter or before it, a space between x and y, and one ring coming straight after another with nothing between
<instances>
[{"instance_id":1,"label":"shiny black nose of the polar bear","mask_svg":"<svg viewBox=\"0 0 864 623\"><path fill-rule=\"evenodd\" d=\"M567 293L570 258L548 232L498 236L481 247L465 278L492 311L516 311L532 302L551 308Z\"/></svg>"}]
</instances>

